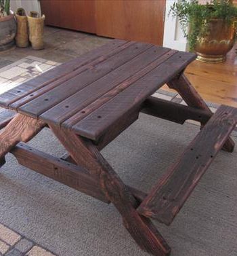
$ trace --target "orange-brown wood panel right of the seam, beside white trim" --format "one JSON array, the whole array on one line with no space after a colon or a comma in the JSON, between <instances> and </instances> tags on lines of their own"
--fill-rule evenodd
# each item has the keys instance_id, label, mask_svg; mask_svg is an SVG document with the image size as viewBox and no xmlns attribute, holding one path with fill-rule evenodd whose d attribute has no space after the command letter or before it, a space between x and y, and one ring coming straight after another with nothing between
<instances>
[{"instance_id":1,"label":"orange-brown wood panel right of the seam, beside white trim","mask_svg":"<svg viewBox=\"0 0 237 256\"><path fill-rule=\"evenodd\" d=\"M163 45L165 0L95 1L96 33Z\"/></svg>"}]
</instances>

